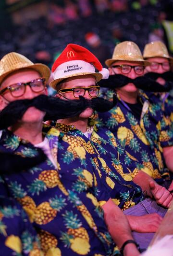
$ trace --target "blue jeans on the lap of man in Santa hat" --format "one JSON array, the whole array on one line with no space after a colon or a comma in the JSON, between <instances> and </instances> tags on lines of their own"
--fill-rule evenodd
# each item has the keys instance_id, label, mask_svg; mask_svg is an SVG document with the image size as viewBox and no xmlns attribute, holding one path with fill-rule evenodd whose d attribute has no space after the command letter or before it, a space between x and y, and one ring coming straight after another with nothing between
<instances>
[{"instance_id":1,"label":"blue jeans on the lap of man in Santa hat","mask_svg":"<svg viewBox=\"0 0 173 256\"><path fill-rule=\"evenodd\" d=\"M145 199L137 205L124 211L125 215L143 216L151 213L158 213L161 217L164 217L167 209L159 206L156 201L152 199ZM143 225L141 223L141 225ZM138 233L132 231L134 240L139 244L141 249L147 249L155 233Z\"/></svg>"}]
</instances>

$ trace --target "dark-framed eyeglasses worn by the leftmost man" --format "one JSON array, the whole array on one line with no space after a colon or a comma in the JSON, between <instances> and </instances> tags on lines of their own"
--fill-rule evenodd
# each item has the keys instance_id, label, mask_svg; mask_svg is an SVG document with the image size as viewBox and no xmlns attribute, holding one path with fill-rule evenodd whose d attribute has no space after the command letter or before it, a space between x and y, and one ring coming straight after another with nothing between
<instances>
[{"instance_id":1,"label":"dark-framed eyeglasses worn by the leftmost man","mask_svg":"<svg viewBox=\"0 0 173 256\"><path fill-rule=\"evenodd\" d=\"M3 90L1 90L0 94L4 93L6 90L9 90L13 97L21 97L25 94L26 85L29 85L33 92L41 92L46 87L45 81L45 78L37 78L27 83L17 83L9 85Z\"/></svg>"}]
</instances>

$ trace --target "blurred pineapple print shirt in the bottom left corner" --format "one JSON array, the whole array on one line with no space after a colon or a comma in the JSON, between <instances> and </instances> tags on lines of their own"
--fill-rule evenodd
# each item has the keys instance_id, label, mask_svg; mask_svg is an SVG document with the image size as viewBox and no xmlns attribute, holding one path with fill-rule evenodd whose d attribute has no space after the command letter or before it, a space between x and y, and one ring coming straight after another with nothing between
<instances>
[{"instance_id":1,"label":"blurred pineapple print shirt in the bottom left corner","mask_svg":"<svg viewBox=\"0 0 173 256\"><path fill-rule=\"evenodd\" d=\"M0 196L0 256L43 256L36 231L14 199Z\"/></svg>"}]
</instances>

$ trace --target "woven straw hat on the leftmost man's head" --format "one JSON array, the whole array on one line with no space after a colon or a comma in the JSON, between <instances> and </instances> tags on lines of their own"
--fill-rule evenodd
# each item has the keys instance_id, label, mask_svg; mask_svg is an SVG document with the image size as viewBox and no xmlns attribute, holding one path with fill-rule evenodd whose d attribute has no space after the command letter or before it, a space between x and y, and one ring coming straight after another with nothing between
<instances>
[{"instance_id":1,"label":"woven straw hat on the leftmost man's head","mask_svg":"<svg viewBox=\"0 0 173 256\"><path fill-rule=\"evenodd\" d=\"M4 78L14 71L20 71L25 69L33 69L38 71L41 77L44 77L48 81L50 76L49 68L41 63L34 64L25 56L19 53L9 53L0 60L0 84Z\"/></svg>"}]
</instances>

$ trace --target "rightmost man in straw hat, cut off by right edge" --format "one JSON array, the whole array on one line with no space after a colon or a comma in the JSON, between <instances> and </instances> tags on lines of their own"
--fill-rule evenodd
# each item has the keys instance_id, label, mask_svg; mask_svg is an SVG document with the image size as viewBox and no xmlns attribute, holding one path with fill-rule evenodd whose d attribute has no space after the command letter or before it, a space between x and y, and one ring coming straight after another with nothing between
<instances>
[{"instance_id":1,"label":"rightmost man in straw hat, cut off by right edge","mask_svg":"<svg viewBox=\"0 0 173 256\"><path fill-rule=\"evenodd\" d=\"M169 92L155 93L157 97L154 99L158 104L161 103L164 114L170 117L171 128L173 128L173 72L171 71L173 57L169 55L166 45L160 41L147 43L143 57L150 62L150 66L145 71L147 77L156 80L163 87L171 84ZM148 97L153 98L153 94L149 93ZM173 185L169 187L169 190L173 190Z\"/></svg>"}]
</instances>

